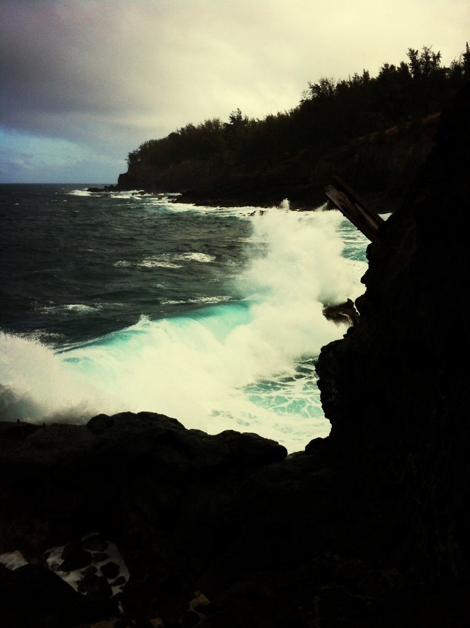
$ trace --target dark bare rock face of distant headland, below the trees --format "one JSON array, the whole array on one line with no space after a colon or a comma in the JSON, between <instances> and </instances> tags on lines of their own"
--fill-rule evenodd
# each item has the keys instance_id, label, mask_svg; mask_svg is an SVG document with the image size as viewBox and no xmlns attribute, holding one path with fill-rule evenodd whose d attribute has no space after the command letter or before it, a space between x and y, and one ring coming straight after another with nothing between
<instances>
[{"instance_id":1,"label":"dark bare rock face of distant headland, below the trees","mask_svg":"<svg viewBox=\"0 0 470 628\"><path fill-rule=\"evenodd\" d=\"M180 202L209 206L278 205L314 208L324 202L324 187L340 175L361 190L379 211L403 201L414 176L434 146L439 114L371 133L334 148L311 148L243 162L220 156L184 160L167 168L129 166L118 190L182 192Z\"/></svg>"}]
</instances>

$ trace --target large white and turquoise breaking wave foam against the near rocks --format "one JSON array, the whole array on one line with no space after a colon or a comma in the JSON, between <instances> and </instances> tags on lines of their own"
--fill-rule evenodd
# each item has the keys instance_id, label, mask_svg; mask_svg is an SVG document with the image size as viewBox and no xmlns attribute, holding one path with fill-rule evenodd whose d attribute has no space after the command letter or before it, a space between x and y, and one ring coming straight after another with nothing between
<instances>
[{"instance_id":1,"label":"large white and turquoise breaking wave foam against the near rocks","mask_svg":"<svg viewBox=\"0 0 470 628\"><path fill-rule=\"evenodd\" d=\"M358 296L365 264L341 256L339 212L273 208L252 220L257 257L234 290L244 302L142 317L62 353L1 334L2 418L148 410L211 433L257 431L290 451L325 436L310 358L345 332L324 318L323 304Z\"/></svg>"}]
</instances>

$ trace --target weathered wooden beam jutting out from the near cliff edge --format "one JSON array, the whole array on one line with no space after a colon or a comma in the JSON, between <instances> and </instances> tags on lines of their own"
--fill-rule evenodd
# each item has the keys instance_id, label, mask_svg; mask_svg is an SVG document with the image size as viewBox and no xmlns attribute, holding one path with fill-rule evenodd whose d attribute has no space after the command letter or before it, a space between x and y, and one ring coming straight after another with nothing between
<instances>
[{"instance_id":1,"label":"weathered wooden beam jutting out from the near cliff edge","mask_svg":"<svg viewBox=\"0 0 470 628\"><path fill-rule=\"evenodd\" d=\"M339 176L332 178L332 183L325 187L325 194L336 205L342 215L358 227L364 236L374 244L380 242L378 228L383 218L368 207L366 201L359 196Z\"/></svg>"}]
</instances>

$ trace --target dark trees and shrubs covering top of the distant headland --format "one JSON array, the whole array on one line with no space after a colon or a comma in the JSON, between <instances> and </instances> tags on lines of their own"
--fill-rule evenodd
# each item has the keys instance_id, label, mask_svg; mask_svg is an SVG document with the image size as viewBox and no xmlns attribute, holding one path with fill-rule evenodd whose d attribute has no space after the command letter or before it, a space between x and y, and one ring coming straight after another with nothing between
<instances>
[{"instance_id":1,"label":"dark trees and shrubs covering top of the distant headland","mask_svg":"<svg viewBox=\"0 0 470 628\"><path fill-rule=\"evenodd\" d=\"M347 80L320 78L309 83L297 107L251 119L236 109L228 122L218 118L187 126L166 138L150 139L129 153L128 174L142 184L155 181L156 170L187 160L219 166L315 147L325 150L353 138L385 131L400 122L441 111L470 77L470 49L449 67L440 52L424 46L408 49L408 61L384 63L376 77L367 70Z\"/></svg>"}]
</instances>

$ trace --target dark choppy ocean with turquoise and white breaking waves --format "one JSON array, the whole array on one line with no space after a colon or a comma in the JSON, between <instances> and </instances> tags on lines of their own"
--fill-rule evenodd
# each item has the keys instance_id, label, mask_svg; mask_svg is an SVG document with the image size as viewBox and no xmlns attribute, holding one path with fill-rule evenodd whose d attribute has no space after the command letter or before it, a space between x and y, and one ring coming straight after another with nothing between
<instances>
[{"instance_id":1,"label":"dark choppy ocean with turquoise and white breaking waves","mask_svg":"<svg viewBox=\"0 0 470 628\"><path fill-rule=\"evenodd\" d=\"M153 411L302 450L330 425L324 305L364 288L368 241L337 211L208 208L175 195L0 186L0 420Z\"/></svg>"}]
</instances>

